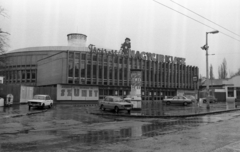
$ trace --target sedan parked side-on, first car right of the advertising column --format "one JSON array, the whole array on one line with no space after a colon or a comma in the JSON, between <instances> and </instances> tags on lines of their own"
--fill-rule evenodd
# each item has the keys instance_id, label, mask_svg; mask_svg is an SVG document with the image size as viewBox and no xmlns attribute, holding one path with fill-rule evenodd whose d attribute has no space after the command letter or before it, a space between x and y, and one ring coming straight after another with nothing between
<instances>
[{"instance_id":1,"label":"sedan parked side-on, first car right of the advertising column","mask_svg":"<svg viewBox=\"0 0 240 152\"><path fill-rule=\"evenodd\" d=\"M189 99L185 96L174 96L170 99L164 99L163 100L167 105L170 104L183 104L184 106L191 104L194 100Z\"/></svg>"}]
</instances>

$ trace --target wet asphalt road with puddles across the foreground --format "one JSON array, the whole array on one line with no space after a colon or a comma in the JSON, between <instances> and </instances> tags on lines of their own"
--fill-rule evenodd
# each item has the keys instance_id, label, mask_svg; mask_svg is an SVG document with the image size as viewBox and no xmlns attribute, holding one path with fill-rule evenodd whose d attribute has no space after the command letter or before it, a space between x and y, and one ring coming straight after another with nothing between
<instances>
[{"instance_id":1,"label":"wet asphalt road with puddles across the foreground","mask_svg":"<svg viewBox=\"0 0 240 152\"><path fill-rule=\"evenodd\" d=\"M21 110L15 111L28 112L26 107L27 105L21 105L19 107ZM59 104L47 112L36 115L0 118L0 151L188 151L187 148L191 147L192 141L202 142L209 134L216 132L217 129L221 130L221 126L224 126L222 130L229 133L221 136L226 138L226 141L211 140L211 145L215 146L210 146L209 149L192 147L189 150L221 150L231 142L240 141L239 136L234 136L238 132L240 135L238 111L184 119L101 117L91 115L92 111L98 111L98 107ZM232 125L230 128L229 124ZM204 128L210 133L204 134ZM199 130L202 133L200 135ZM194 140L176 143L176 139L185 137L185 134L189 134ZM217 133L214 136L217 136ZM168 142L165 142L164 138L167 138ZM139 147L143 145L145 146L140 150ZM174 149L179 146L182 150Z\"/></svg>"}]
</instances>

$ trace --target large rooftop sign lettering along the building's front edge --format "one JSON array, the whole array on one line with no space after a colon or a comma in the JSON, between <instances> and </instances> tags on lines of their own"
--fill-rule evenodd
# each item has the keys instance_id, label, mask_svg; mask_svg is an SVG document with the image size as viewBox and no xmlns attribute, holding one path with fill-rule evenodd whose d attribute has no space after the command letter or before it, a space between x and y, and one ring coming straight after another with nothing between
<instances>
[{"instance_id":1,"label":"large rooftop sign lettering along the building's front edge","mask_svg":"<svg viewBox=\"0 0 240 152\"><path fill-rule=\"evenodd\" d=\"M173 57L168 55L162 55L162 54L155 54L155 53L149 53L149 52L139 52L130 50L126 54L122 54L117 50L106 50L106 49L100 49L96 48L94 45L88 46L90 53L96 53L96 54L108 54L108 55L118 55L118 56L125 56L129 58L135 58L135 59L141 59L141 60L149 60L149 61L155 61L155 62L166 62L166 63L174 63L174 64L186 64L185 58L180 57Z\"/></svg>"}]
</instances>

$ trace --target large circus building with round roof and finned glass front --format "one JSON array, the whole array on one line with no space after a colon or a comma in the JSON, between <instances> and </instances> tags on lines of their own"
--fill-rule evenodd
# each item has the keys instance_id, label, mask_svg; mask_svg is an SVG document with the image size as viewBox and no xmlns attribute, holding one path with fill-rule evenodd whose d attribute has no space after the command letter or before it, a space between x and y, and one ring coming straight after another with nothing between
<instances>
[{"instance_id":1,"label":"large circus building with round roof and finned glass front","mask_svg":"<svg viewBox=\"0 0 240 152\"><path fill-rule=\"evenodd\" d=\"M198 67L186 65L185 58L86 46L87 36L79 33L68 34L67 40L68 46L29 47L4 54L8 61L0 71L4 83L51 87L58 101L97 101L106 95L128 95L131 70L137 69L142 74L143 100L197 88L193 77Z\"/></svg>"}]
</instances>

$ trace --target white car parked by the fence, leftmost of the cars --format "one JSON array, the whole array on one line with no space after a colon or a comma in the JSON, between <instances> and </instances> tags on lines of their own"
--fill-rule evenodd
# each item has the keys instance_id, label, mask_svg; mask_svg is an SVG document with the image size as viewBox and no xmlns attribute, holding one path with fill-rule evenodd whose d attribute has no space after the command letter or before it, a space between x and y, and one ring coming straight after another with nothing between
<instances>
[{"instance_id":1,"label":"white car parked by the fence, leftmost of the cars","mask_svg":"<svg viewBox=\"0 0 240 152\"><path fill-rule=\"evenodd\" d=\"M53 100L49 95L35 95L32 100L28 100L28 109L31 107L52 108Z\"/></svg>"}]
</instances>

